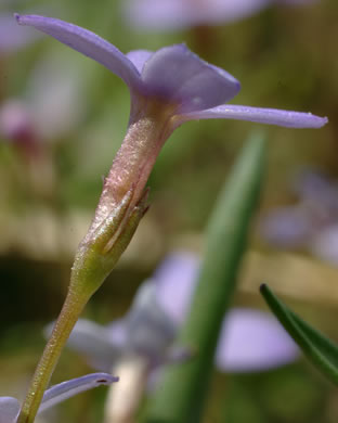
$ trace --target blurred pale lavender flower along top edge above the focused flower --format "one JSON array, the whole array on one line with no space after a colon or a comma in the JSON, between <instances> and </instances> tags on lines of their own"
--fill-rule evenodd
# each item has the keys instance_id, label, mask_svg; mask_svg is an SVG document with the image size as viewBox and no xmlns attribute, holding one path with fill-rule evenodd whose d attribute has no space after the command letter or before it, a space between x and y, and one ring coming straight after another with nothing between
<instances>
[{"instance_id":1,"label":"blurred pale lavender flower along top edge above the focused flower","mask_svg":"<svg viewBox=\"0 0 338 423\"><path fill-rule=\"evenodd\" d=\"M313 0L125 0L126 20L145 30L172 30L243 20L271 4Z\"/></svg>"}]
</instances>

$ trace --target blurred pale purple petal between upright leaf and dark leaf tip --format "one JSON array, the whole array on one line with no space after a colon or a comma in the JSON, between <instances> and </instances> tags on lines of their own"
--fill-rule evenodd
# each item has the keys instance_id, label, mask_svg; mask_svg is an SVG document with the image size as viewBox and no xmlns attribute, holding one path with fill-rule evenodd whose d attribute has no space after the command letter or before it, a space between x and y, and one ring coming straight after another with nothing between
<instances>
[{"instance_id":1,"label":"blurred pale purple petal between upright leaf and dark leaf tip","mask_svg":"<svg viewBox=\"0 0 338 423\"><path fill-rule=\"evenodd\" d=\"M221 371L251 372L287 364L298 356L297 345L273 316L238 308L225 318L216 363Z\"/></svg>"}]
</instances>

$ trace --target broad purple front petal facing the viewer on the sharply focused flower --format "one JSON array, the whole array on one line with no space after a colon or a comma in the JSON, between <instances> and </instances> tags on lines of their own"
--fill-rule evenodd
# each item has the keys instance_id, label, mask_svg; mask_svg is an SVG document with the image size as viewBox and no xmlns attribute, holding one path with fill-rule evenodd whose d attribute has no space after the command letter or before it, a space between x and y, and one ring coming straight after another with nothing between
<instances>
[{"instance_id":1,"label":"broad purple front petal facing the viewer on the sharply focused flower","mask_svg":"<svg viewBox=\"0 0 338 423\"><path fill-rule=\"evenodd\" d=\"M209 65L185 46L157 50L141 74L151 94L180 105L180 113L202 111L233 99L239 82L227 72Z\"/></svg>"}]
</instances>

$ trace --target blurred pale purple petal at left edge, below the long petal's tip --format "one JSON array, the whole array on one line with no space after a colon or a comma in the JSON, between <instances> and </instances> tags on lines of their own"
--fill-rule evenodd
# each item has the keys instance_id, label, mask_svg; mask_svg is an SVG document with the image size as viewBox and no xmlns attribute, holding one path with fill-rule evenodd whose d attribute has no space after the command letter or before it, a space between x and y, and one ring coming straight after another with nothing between
<instances>
[{"instance_id":1,"label":"blurred pale purple petal at left edge, below the long petal's tip","mask_svg":"<svg viewBox=\"0 0 338 423\"><path fill-rule=\"evenodd\" d=\"M38 38L32 29L18 28L12 14L0 13L0 54L15 52Z\"/></svg>"}]
</instances>

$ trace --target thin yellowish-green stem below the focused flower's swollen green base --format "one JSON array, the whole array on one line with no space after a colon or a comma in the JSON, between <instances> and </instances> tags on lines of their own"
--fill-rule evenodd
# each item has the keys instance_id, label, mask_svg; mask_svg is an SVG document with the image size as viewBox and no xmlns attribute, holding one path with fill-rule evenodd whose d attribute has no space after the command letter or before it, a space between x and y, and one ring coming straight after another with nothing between
<instances>
[{"instance_id":1,"label":"thin yellowish-green stem below the focused flower's swollen green base","mask_svg":"<svg viewBox=\"0 0 338 423\"><path fill-rule=\"evenodd\" d=\"M69 289L52 335L44 347L24 400L17 423L32 423L40 407L43 393L50 382L63 347L90 296L79 295Z\"/></svg>"}]
</instances>

